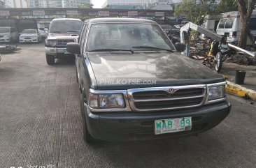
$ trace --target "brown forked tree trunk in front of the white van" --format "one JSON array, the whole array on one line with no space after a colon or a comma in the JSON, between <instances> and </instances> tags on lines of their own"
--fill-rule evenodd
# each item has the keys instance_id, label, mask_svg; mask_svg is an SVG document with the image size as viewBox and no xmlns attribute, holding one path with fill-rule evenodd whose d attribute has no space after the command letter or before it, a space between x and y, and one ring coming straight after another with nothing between
<instances>
[{"instance_id":1,"label":"brown forked tree trunk in front of the white van","mask_svg":"<svg viewBox=\"0 0 256 168\"><path fill-rule=\"evenodd\" d=\"M255 8L256 0L236 0L237 5L239 6L240 13L240 21L241 21L241 31L238 46L241 48L246 48L247 43L247 35L249 33L250 26L250 16L253 13L253 9Z\"/></svg>"}]
</instances>

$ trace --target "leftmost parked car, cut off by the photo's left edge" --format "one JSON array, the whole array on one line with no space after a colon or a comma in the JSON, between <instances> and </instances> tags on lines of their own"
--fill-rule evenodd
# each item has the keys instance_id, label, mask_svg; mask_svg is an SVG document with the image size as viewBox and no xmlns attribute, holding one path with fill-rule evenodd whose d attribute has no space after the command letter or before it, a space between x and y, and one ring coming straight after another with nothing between
<instances>
[{"instance_id":1,"label":"leftmost parked car, cut off by the photo's left edge","mask_svg":"<svg viewBox=\"0 0 256 168\"><path fill-rule=\"evenodd\" d=\"M19 32L14 27L0 27L0 42L10 43L19 40Z\"/></svg>"}]
</instances>

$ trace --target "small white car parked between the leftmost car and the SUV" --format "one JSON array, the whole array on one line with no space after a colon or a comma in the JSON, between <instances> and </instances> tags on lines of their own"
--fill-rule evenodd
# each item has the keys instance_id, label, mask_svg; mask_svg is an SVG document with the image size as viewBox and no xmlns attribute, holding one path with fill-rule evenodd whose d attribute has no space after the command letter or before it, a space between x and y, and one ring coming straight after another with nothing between
<instances>
[{"instance_id":1,"label":"small white car parked between the leftmost car and the SUV","mask_svg":"<svg viewBox=\"0 0 256 168\"><path fill-rule=\"evenodd\" d=\"M41 33L36 29L24 29L20 33L20 43L39 43L41 40Z\"/></svg>"}]
</instances>

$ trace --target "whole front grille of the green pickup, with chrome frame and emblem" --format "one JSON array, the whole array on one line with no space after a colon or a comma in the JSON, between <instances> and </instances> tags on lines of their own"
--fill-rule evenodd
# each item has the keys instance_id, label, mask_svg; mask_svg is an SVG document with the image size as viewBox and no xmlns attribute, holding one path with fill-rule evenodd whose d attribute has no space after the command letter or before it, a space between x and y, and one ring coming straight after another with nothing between
<instances>
[{"instance_id":1,"label":"whole front grille of the green pickup, with chrome frame and emblem","mask_svg":"<svg viewBox=\"0 0 256 168\"><path fill-rule=\"evenodd\" d=\"M205 85L130 89L129 102L135 111L198 107L206 97Z\"/></svg>"}]
</instances>

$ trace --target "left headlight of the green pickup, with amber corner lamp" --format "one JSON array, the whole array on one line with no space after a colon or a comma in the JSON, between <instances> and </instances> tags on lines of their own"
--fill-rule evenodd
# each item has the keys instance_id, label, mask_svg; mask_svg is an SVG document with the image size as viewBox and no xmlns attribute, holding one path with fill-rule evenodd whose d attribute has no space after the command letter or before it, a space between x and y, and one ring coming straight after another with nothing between
<instances>
[{"instance_id":1,"label":"left headlight of the green pickup, with amber corner lamp","mask_svg":"<svg viewBox=\"0 0 256 168\"><path fill-rule=\"evenodd\" d=\"M94 94L90 93L89 105L96 109L125 108L124 96L122 94Z\"/></svg>"}]
</instances>

